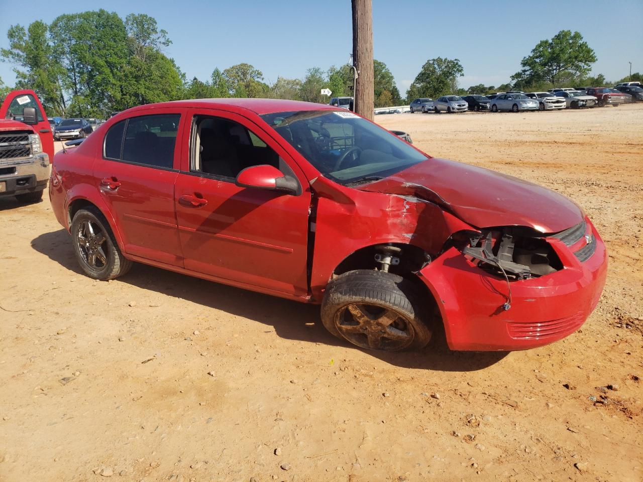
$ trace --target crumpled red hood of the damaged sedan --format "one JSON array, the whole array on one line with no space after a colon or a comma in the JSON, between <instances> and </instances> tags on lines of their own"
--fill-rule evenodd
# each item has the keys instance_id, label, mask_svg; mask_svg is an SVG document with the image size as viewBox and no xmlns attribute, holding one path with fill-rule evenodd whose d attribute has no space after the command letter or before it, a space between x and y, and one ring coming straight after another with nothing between
<instances>
[{"instance_id":1,"label":"crumpled red hood of the damaged sedan","mask_svg":"<svg viewBox=\"0 0 643 482\"><path fill-rule=\"evenodd\" d=\"M359 189L420 197L476 228L529 226L557 233L584 217L573 201L538 184L435 157Z\"/></svg>"}]
</instances>

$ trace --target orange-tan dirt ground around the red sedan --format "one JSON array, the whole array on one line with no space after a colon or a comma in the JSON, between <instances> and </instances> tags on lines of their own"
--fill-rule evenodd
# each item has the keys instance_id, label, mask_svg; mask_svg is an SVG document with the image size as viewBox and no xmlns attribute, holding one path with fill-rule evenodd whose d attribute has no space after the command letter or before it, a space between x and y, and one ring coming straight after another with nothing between
<instances>
[{"instance_id":1,"label":"orange-tan dirt ground around the red sedan","mask_svg":"<svg viewBox=\"0 0 643 482\"><path fill-rule=\"evenodd\" d=\"M1 199L0 481L643 479L643 104L376 120L584 207L610 269L581 330L362 352L318 307L145 265L90 280L48 199Z\"/></svg>"}]
</instances>

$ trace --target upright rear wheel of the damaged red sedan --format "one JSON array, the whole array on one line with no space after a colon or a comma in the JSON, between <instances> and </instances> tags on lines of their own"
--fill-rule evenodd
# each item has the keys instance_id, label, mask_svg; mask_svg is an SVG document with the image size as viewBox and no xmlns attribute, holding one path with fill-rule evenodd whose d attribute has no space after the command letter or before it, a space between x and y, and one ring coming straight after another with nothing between
<instances>
[{"instance_id":1,"label":"upright rear wheel of the damaged red sedan","mask_svg":"<svg viewBox=\"0 0 643 482\"><path fill-rule=\"evenodd\" d=\"M109 223L96 208L79 210L71 222L71 243L80 269L95 280L122 276L132 267L123 256Z\"/></svg>"}]
</instances>

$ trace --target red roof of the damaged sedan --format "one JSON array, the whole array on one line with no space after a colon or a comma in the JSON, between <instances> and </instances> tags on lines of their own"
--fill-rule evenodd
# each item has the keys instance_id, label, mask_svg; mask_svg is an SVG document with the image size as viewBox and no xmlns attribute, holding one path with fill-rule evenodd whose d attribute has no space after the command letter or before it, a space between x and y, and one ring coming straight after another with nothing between
<instances>
[{"instance_id":1,"label":"red roof of the damaged sedan","mask_svg":"<svg viewBox=\"0 0 643 482\"><path fill-rule=\"evenodd\" d=\"M340 97L350 98L350 97ZM159 102L146 105L139 105L127 109L128 114L135 111L148 111L149 109L167 109L168 107L194 107L202 109L222 109L225 107L237 107L255 112L255 114L271 114L272 112L289 111L336 111L337 108L327 104L315 102L302 102L300 100L282 99L250 99L250 98L222 98L222 99L192 99L174 100L172 102ZM120 112L120 113L125 113Z\"/></svg>"}]
</instances>

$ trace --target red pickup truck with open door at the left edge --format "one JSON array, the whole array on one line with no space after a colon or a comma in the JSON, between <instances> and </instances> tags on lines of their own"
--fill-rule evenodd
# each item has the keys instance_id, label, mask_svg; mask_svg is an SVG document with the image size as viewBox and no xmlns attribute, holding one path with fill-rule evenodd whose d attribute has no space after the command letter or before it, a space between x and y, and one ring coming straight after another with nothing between
<instances>
[{"instance_id":1,"label":"red pickup truck with open door at the left edge","mask_svg":"<svg viewBox=\"0 0 643 482\"><path fill-rule=\"evenodd\" d=\"M34 91L13 91L0 105L0 196L37 202L47 187L53 136Z\"/></svg>"}]
</instances>

